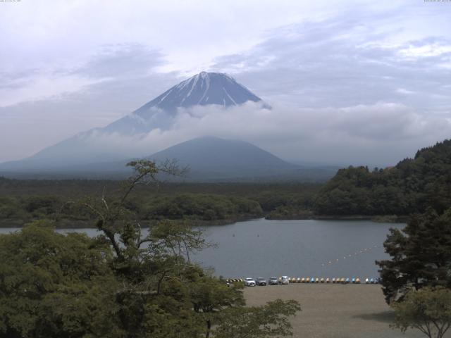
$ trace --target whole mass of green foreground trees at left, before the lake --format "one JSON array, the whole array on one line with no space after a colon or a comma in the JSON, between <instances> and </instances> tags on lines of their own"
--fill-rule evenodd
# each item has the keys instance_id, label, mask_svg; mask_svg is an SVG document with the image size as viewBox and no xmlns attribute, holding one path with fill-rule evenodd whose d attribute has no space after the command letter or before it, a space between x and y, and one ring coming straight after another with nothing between
<instances>
[{"instance_id":1,"label":"whole mass of green foreground trees at left, before the lake","mask_svg":"<svg viewBox=\"0 0 451 338\"><path fill-rule=\"evenodd\" d=\"M158 173L179 172L150 161L130 165L135 175L115 194L69 203L96 219L96 239L42 223L0 237L0 338L224 337L220 328L252 332L246 337L290 334L295 301L246 308L241 284L229 286L190 261L209 246L199 230L161 220L142 236L132 192Z\"/></svg>"}]
</instances>

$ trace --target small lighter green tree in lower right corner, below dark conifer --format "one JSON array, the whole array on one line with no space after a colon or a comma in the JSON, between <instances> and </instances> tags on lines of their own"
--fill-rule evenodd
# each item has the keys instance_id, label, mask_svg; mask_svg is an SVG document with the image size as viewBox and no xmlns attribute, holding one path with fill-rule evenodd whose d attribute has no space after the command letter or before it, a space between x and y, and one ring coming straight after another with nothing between
<instances>
[{"instance_id":1,"label":"small lighter green tree in lower right corner, below dark conifer","mask_svg":"<svg viewBox=\"0 0 451 338\"><path fill-rule=\"evenodd\" d=\"M424 287L407 293L402 302L392 305L396 320L394 327L405 332L420 330L429 338L442 338L451 327L451 290Z\"/></svg>"}]
</instances>

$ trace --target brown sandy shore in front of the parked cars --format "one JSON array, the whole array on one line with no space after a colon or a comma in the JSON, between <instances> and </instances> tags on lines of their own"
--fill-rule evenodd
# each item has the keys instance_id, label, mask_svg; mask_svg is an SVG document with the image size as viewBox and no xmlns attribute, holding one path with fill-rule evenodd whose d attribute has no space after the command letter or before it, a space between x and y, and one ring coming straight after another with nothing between
<instances>
[{"instance_id":1,"label":"brown sandy shore in front of the parked cars","mask_svg":"<svg viewBox=\"0 0 451 338\"><path fill-rule=\"evenodd\" d=\"M402 334L388 326L393 313L377 284L289 284L245 288L249 306L278 298L295 299L301 304L302 311L292 319L293 337L426 337L414 330ZM445 337L451 337L451 332Z\"/></svg>"}]
</instances>

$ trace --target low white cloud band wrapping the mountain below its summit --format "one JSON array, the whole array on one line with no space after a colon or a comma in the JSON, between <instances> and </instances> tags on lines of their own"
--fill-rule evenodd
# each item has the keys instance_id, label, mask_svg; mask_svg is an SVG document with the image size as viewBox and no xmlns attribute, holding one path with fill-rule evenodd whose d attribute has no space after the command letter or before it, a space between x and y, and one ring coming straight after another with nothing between
<instances>
[{"instance_id":1,"label":"low white cloud band wrapping the mountain below its summit","mask_svg":"<svg viewBox=\"0 0 451 338\"><path fill-rule=\"evenodd\" d=\"M451 135L447 118L427 117L400 104L346 108L261 109L258 104L178 111L169 130L133 137L97 132L98 149L148 156L201 136L243 139L282 158L320 163L393 165L416 149ZM127 156L124 156L127 157Z\"/></svg>"}]
</instances>

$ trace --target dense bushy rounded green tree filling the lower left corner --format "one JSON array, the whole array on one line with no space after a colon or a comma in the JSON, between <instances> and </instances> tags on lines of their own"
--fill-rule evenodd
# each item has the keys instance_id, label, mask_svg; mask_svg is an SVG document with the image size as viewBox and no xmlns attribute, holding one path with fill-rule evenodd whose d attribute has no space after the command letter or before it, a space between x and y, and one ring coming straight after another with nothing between
<instances>
[{"instance_id":1,"label":"dense bushy rounded green tree filling the lower left corner","mask_svg":"<svg viewBox=\"0 0 451 338\"><path fill-rule=\"evenodd\" d=\"M0 235L0 337L123 337L111 249L48 223Z\"/></svg>"}]
</instances>

